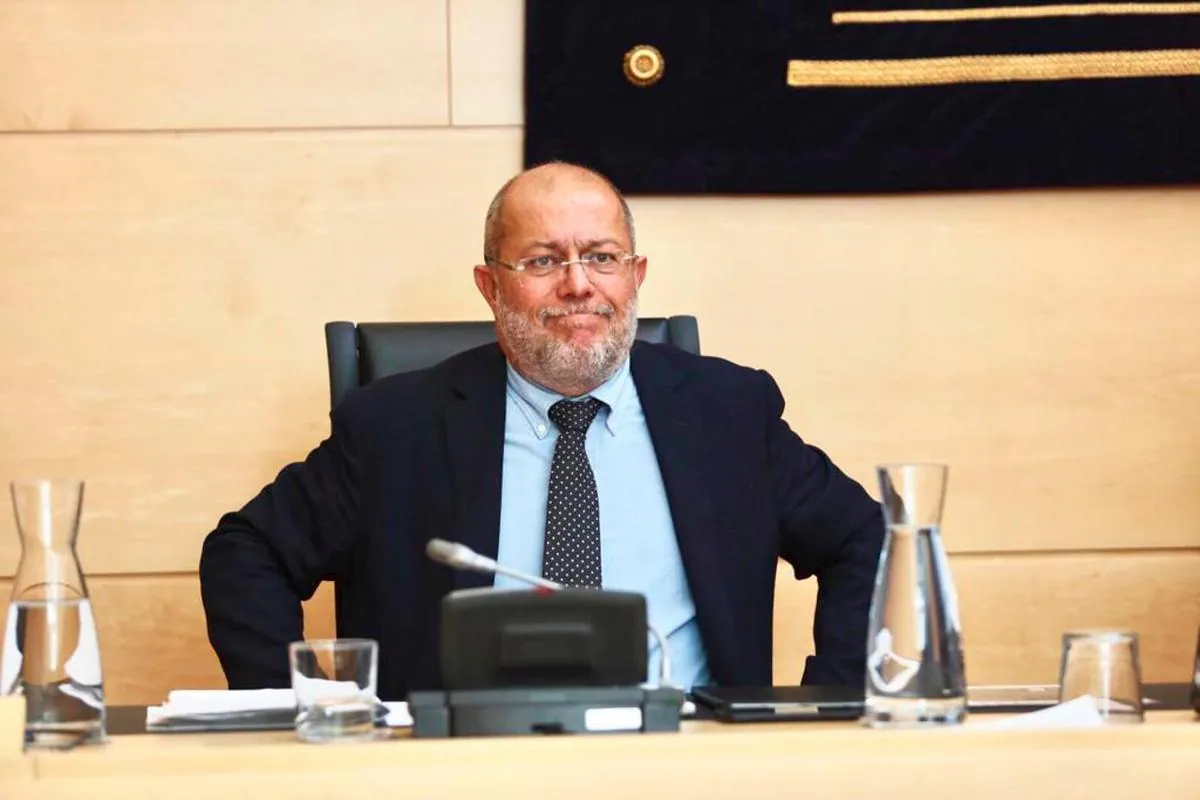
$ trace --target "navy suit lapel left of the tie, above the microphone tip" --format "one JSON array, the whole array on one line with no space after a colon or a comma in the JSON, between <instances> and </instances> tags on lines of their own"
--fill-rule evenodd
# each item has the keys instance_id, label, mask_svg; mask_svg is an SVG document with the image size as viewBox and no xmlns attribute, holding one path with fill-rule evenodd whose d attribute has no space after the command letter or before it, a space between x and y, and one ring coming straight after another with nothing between
<instances>
[{"instance_id":1,"label":"navy suit lapel left of the tie, above the microphone tip","mask_svg":"<svg viewBox=\"0 0 1200 800\"><path fill-rule=\"evenodd\" d=\"M504 355L499 347L464 360L451 379L445 416L454 504L451 539L494 559L500 537L504 468ZM455 589L490 587L492 576L457 571Z\"/></svg>"}]
</instances>

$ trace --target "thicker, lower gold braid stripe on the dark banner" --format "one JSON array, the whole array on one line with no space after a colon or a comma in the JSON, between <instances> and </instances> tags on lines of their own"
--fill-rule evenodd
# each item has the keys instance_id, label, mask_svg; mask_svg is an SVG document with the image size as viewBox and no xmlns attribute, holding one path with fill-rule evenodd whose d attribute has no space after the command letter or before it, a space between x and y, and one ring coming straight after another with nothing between
<instances>
[{"instance_id":1,"label":"thicker, lower gold braid stripe on the dark banner","mask_svg":"<svg viewBox=\"0 0 1200 800\"><path fill-rule=\"evenodd\" d=\"M1200 74L1200 50L958 55L787 62L788 86L930 86L950 83L1165 78Z\"/></svg>"}]
</instances>

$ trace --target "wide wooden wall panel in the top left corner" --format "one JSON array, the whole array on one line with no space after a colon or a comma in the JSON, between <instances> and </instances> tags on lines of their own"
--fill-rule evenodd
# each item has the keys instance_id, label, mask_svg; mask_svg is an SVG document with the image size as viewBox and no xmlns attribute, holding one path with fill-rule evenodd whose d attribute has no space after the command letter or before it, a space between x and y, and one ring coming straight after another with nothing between
<instances>
[{"instance_id":1,"label":"wide wooden wall panel in the top left corner","mask_svg":"<svg viewBox=\"0 0 1200 800\"><path fill-rule=\"evenodd\" d=\"M0 130L445 125L445 0L5 0Z\"/></svg>"}]
</instances>

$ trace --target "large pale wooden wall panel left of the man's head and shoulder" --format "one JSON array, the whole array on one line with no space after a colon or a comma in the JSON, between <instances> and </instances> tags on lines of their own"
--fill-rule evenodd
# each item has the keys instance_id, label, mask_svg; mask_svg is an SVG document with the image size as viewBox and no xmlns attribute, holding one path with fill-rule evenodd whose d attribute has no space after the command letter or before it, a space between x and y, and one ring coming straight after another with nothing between
<instances>
[{"instance_id":1,"label":"large pale wooden wall panel left of the man's head and shoulder","mask_svg":"<svg viewBox=\"0 0 1200 800\"><path fill-rule=\"evenodd\" d=\"M194 571L218 515L325 435L325 321L488 313L470 266L517 143L0 137L0 480L88 480L90 573Z\"/></svg>"}]
</instances>

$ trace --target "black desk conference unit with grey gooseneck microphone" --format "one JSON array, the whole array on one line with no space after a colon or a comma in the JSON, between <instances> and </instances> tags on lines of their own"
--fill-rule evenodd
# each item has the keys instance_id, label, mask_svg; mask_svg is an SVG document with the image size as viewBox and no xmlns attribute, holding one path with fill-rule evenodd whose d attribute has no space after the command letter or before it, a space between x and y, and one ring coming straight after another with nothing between
<instances>
[{"instance_id":1,"label":"black desk conference unit with grey gooseneck microphone","mask_svg":"<svg viewBox=\"0 0 1200 800\"><path fill-rule=\"evenodd\" d=\"M426 553L535 589L442 599L442 687L409 693L415 738L679 729L684 696L670 685L666 640L648 624L643 595L564 589L442 540ZM647 631L662 648L656 687L646 685Z\"/></svg>"}]
</instances>

